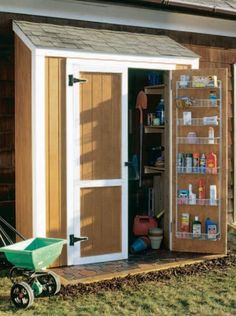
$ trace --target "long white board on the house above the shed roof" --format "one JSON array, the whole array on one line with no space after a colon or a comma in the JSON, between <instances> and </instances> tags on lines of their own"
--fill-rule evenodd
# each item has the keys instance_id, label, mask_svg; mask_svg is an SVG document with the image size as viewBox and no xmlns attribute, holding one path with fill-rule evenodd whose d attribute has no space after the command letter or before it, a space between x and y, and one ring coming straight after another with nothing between
<instances>
[{"instance_id":1,"label":"long white board on the house above the shed roof","mask_svg":"<svg viewBox=\"0 0 236 316\"><path fill-rule=\"evenodd\" d=\"M236 21L73 0L1 0L1 12L236 37Z\"/></svg>"}]
</instances>

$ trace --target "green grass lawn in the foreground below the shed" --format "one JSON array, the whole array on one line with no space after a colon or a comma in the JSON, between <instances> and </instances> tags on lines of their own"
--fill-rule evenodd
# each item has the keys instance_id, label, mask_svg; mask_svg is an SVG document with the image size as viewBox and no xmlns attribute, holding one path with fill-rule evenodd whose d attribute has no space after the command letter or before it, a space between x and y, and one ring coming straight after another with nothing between
<instances>
[{"instance_id":1,"label":"green grass lawn in the foreground below the shed","mask_svg":"<svg viewBox=\"0 0 236 316\"><path fill-rule=\"evenodd\" d=\"M0 276L0 315L236 315L236 268L165 282L144 282L122 290L78 298L37 298L28 310L9 299L11 283Z\"/></svg>"}]
</instances>

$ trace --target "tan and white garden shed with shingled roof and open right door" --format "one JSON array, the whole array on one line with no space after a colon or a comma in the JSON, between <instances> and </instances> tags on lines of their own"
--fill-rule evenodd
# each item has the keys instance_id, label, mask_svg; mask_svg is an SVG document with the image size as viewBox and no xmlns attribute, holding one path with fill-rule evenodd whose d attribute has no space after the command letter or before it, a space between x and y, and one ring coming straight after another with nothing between
<instances>
[{"instance_id":1,"label":"tan and white garden shed with shingled roof and open right door","mask_svg":"<svg viewBox=\"0 0 236 316\"><path fill-rule=\"evenodd\" d=\"M134 205L129 203L133 187L128 190L128 161L131 151L140 149L137 145L129 152L129 148L135 142L132 133L139 128L134 98L137 87L143 87L146 95L156 95L156 101L164 97L166 102L165 129L152 124L144 129L153 134L149 139L165 142L165 170L142 164L139 174L147 178L151 174L151 181L165 188L165 244L171 250L225 253L227 70L198 69L199 56L167 36L26 21L14 21L13 30L17 229L29 237L68 239L59 265L128 257L128 209ZM149 85L143 78L153 72L162 79ZM187 81L210 76L215 83L183 87L178 83L182 75ZM181 91L184 88L189 89ZM217 103L211 107L212 89L217 91ZM199 119L192 120L197 122L192 124L197 143L186 143L186 133L192 130L181 123L183 109L180 114L176 110L176 100L182 101L186 93L203 100L191 111L193 119ZM214 123L202 123L212 117ZM215 137L209 143L212 124ZM179 176L177 155L196 150L214 151L218 158L216 172L201 175L207 190L217 187L215 204L210 204L209 193L204 201L187 203L192 217L198 208L202 222L207 216L214 220L213 240L208 240L205 227L197 240L180 227L186 204L179 203L179 188L193 182L196 191L200 179L194 172ZM133 198L137 188L134 191ZM80 235L89 237L81 246L76 243Z\"/></svg>"}]
</instances>

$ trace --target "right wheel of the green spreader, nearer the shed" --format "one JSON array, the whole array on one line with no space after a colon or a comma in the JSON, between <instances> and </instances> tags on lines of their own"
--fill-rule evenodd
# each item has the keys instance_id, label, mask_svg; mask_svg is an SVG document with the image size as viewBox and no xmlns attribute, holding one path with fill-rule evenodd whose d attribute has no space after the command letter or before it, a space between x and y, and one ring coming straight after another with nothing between
<instances>
[{"instance_id":1,"label":"right wheel of the green spreader, nearer the shed","mask_svg":"<svg viewBox=\"0 0 236 316\"><path fill-rule=\"evenodd\" d=\"M55 295L61 289L60 277L52 271L38 277L38 281L44 286L44 293L47 296Z\"/></svg>"}]
</instances>

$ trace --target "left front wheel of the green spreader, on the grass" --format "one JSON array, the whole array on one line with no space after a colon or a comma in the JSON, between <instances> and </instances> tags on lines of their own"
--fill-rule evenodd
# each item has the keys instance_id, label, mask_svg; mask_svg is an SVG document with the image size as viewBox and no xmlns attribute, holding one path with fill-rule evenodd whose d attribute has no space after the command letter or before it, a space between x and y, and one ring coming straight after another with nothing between
<instances>
[{"instance_id":1,"label":"left front wheel of the green spreader, on the grass","mask_svg":"<svg viewBox=\"0 0 236 316\"><path fill-rule=\"evenodd\" d=\"M11 300L17 308L28 308L34 301L33 290L26 282L15 283L11 288Z\"/></svg>"}]
</instances>

